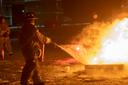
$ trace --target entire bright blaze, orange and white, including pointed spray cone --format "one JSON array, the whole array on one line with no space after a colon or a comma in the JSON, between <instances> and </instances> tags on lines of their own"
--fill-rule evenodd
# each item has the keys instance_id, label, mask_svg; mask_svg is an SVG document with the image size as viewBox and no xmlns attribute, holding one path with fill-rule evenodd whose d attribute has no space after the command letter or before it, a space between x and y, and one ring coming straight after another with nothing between
<instances>
[{"instance_id":1,"label":"entire bright blaze, orange and white, including pointed spray cone","mask_svg":"<svg viewBox=\"0 0 128 85\"><path fill-rule=\"evenodd\" d=\"M76 37L77 44L59 46L83 64L128 63L128 18L94 23Z\"/></svg>"}]
</instances>

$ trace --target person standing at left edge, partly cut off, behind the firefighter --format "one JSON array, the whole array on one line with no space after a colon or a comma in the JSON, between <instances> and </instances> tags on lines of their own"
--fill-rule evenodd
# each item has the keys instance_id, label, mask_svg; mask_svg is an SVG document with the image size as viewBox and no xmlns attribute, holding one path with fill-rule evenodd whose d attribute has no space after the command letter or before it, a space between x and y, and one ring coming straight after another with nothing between
<instances>
[{"instance_id":1,"label":"person standing at left edge, partly cut off, behind the firefighter","mask_svg":"<svg viewBox=\"0 0 128 85\"><path fill-rule=\"evenodd\" d=\"M5 51L8 55L13 54L10 40L10 29L4 16L0 16L0 55L3 59Z\"/></svg>"}]
</instances>

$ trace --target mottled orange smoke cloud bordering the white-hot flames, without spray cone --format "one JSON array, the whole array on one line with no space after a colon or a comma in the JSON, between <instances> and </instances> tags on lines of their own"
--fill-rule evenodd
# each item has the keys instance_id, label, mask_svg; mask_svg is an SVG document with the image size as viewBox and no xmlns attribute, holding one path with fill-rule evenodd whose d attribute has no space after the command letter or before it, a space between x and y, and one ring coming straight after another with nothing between
<instances>
[{"instance_id":1,"label":"mottled orange smoke cloud bordering the white-hot flames, without spray cone","mask_svg":"<svg viewBox=\"0 0 128 85\"><path fill-rule=\"evenodd\" d=\"M95 22L85 27L82 32L77 36L80 48L84 52L84 56L87 63L92 56L96 56L99 49L101 49L101 42L104 37L109 33L111 29L111 23L109 22Z\"/></svg>"}]
</instances>

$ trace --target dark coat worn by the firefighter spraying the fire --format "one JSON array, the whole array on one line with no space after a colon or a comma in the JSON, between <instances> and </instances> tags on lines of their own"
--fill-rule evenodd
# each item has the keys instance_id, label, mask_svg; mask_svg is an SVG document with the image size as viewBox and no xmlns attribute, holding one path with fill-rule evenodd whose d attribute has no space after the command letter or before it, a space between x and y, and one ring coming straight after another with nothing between
<instances>
[{"instance_id":1,"label":"dark coat worn by the firefighter spraying the fire","mask_svg":"<svg viewBox=\"0 0 128 85\"><path fill-rule=\"evenodd\" d=\"M20 31L19 41L26 61L43 61L44 47L48 38L32 24L26 23Z\"/></svg>"}]
</instances>

